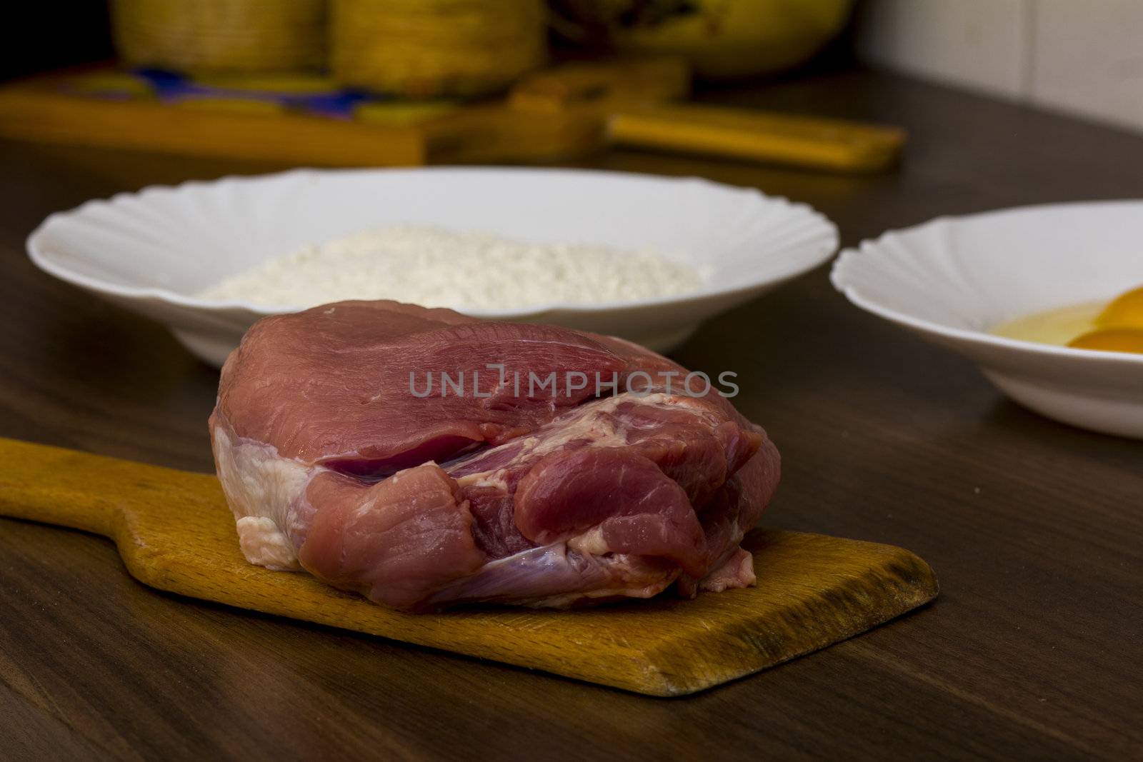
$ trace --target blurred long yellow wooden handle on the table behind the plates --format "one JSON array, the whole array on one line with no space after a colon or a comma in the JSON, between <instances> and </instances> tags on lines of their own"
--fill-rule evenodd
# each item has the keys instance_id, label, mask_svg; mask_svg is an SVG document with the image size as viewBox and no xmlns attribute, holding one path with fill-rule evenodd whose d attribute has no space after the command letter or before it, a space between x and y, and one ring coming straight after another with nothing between
<instances>
[{"instance_id":1,"label":"blurred long yellow wooden handle on the table behind the plates","mask_svg":"<svg viewBox=\"0 0 1143 762\"><path fill-rule=\"evenodd\" d=\"M876 171L896 161L896 127L702 105L649 105L612 114L615 144L773 161L837 171Z\"/></svg>"}]
</instances>

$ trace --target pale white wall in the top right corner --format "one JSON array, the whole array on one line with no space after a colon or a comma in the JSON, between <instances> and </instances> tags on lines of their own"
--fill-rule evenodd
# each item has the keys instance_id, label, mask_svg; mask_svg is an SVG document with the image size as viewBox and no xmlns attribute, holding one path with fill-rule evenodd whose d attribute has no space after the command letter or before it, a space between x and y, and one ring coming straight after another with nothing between
<instances>
[{"instance_id":1,"label":"pale white wall in the top right corner","mask_svg":"<svg viewBox=\"0 0 1143 762\"><path fill-rule=\"evenodd\" d=\"M1143 130L1143 0L869 0L870 64Z\"/></svg>"}]
</instances>

